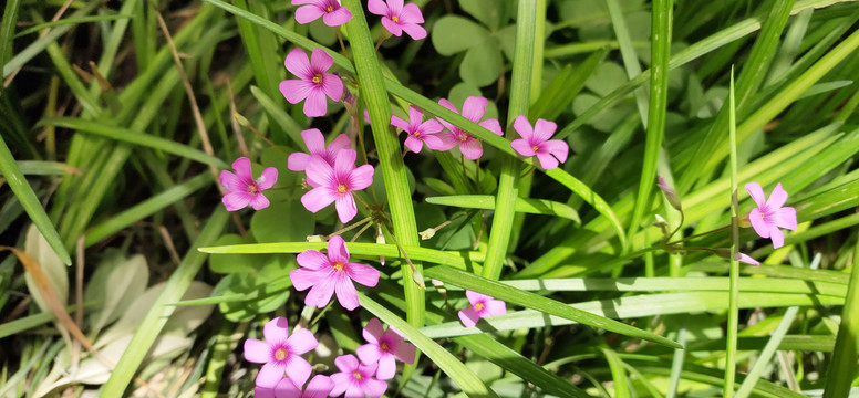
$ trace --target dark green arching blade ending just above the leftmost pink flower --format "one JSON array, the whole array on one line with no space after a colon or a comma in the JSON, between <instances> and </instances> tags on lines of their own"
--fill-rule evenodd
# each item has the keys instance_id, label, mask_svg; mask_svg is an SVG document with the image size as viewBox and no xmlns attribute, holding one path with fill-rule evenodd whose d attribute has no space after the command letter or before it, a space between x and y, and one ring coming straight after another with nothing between
<instances>
[{"instance_id":1,"label":"dark green arching blade ending just above the leftmost pink flower","mask_svg":"<svg viewBox=\"0 0 859 398\"><path fill-rule=\"evenodd\" d=\"M217 168L229 168L229 165L227 165L224 160L206 155L206 153L197 148L192 148L172 139L165 139L148 134L141 134L131 129L115 127L101 122L84 121L75 117L53 117L43 118L39 125L64 127L81 133L110 138L121 143L134 144L156 150L163 150L168 154L196 160L205 165L211 165Z\"/></svg>"}]
</instances>

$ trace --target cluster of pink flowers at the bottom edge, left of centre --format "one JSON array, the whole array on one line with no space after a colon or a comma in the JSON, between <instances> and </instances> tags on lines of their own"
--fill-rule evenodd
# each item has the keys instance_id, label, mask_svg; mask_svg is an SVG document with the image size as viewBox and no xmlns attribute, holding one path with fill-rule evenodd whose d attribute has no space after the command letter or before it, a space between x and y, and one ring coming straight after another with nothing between
<instances>
[{"instance_id":1,"label":"cluster of pink flowers at the bottom edge, left of centre","mask_svg":"<svg viewBox=\"0 0 859 398\"><path fill-rule=\"evenodd\" d=\"M302 355L319 346L317 338L308 329L290 336L284 317L267 322L262 335L265 341L245 341L245 359L265 364L253 390L258 398L325 398L343 394L345 398L377 398L387 390L385 380L396 374L396 360L414 364L417 353L395 329L385 331L379 320L372 318L364 327L368 344L356 349L361 360L352 354L337 357L334 364L340 371L317 375L302 390L313 369Z\"/></svg>"}]
</instances>

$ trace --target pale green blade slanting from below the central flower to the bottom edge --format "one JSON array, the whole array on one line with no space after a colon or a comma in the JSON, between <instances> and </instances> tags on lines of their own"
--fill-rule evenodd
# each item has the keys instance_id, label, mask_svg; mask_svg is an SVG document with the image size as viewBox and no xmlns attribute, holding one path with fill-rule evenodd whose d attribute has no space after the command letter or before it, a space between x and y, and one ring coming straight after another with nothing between
<instances>
[{"instance_id":1,"label":"pale green blade slanting from below the central flower to the bottom edge","mask_svg":"<svg viewBox=\"0 0 859 398\"><path fill-rule=\"evenodd\" d=\"M368 297L365 294L358 293L361 306L373 313L382 322L396 328L422 353L426 354L456 385L472 398L497 398L498 396L487 387L477 375L472 373L465 364L456 359L438 343L424 336L417 328L403 321L383 305Z\"/></svg>"}]
</instances>

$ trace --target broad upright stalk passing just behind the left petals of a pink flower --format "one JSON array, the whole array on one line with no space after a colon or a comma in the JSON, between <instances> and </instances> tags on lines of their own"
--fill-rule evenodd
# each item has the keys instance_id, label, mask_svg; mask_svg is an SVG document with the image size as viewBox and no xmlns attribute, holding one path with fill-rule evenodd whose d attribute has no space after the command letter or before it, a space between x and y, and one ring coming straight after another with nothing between
<instances>
[{"instance_id":1,"label":"broad upright stalk passing just behind the left petals of a pink flower","mask_svg":"<svg viewBox=\"0 0 859 398\"><path fill-rule=\"evenodd\" d=\"M536 0L519 1L516 19L516 51L513 57L513 78L510 82L510 106L507 112L508 121L515 119L518 115L527 116L530 107L536 13ZM508 123L507 138L514 139L517 134L509 127L510 124ZM507 256L514 216L516 216L516 198L519 196L518 180L521 170L521 163L516 158L501 154L499 156L504 157L504 163L501 175L498 178L498 196L495 200L493 227L489 232L489 249L483 269L483 276L491 280L501 276L501 266Z\"/></svg>"}]
</instances>

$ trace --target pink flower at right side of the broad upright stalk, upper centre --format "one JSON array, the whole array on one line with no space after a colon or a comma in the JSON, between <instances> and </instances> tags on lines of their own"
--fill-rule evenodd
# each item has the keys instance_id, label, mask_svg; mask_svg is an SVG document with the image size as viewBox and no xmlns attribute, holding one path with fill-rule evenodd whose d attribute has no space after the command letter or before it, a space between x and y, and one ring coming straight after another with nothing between
<instances>
[{"instance_id":1,"label":"pink flower at right side of the broad upright stalk, upper centre","mask_svg":"<svg viewBox=\"0 0 859 398\"><path fill-rule=\"evenodd\" d=\"M558 128L555 123L537 119L531 129L528 118L519 115L513 123L513 127L521 137L510 143L519 155L525 157L536 155L537 159L540 160L540 166L546 170L558 167L558 161L567 161L567 153L570 150L567 143L561 139L549 139L555 135L555 129Z\"/></svg>"}]
</instances>

